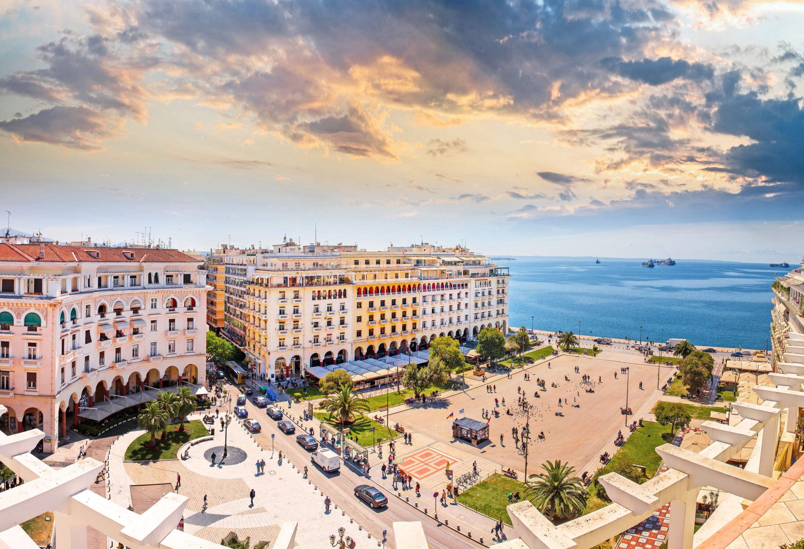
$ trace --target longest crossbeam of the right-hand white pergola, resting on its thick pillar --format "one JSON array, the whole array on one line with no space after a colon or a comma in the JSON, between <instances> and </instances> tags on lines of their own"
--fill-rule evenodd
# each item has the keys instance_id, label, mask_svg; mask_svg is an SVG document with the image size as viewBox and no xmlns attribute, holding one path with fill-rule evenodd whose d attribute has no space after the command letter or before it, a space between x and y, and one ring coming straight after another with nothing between
<instances>
[{"instance_id":1,"label":"longest crossbeam of the right-hand white pergola, resting on its thick pillar","mask_svg":"<svg viewBox=\"0 0 804 549\"><path fill-rule=\"evenodd\" d=\"M668 467L687 473L692 488L711 485L753 501L773 485L773 479L769 477L726 465L674 445L661 445L656 452Z\"/></svg>"}]
</instances>

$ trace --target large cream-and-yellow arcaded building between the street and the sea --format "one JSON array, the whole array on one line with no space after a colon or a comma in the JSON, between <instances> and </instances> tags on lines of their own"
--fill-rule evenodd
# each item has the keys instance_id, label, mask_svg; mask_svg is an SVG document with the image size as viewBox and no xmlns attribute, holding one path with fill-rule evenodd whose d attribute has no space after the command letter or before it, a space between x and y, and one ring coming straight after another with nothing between
<instances>
[{"instance_id":1,"label":"large cream-and-yellow arcaded building between the street and the sea","mask_svg":"<svg viewBox=\"0 0 804 549\"><path fill-rule=\"evenodd\" d=\"M223 333L269 379L508 326L508 268L460 246L367 252L285 240L224 263Z\"/></svg>"}]
</instances>

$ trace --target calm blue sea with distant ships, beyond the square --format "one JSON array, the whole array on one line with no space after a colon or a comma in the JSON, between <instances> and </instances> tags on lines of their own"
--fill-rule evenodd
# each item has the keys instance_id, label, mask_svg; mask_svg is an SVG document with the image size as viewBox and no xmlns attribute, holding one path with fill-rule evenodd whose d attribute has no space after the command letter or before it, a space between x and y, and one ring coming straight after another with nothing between
<instances>
[{"instance_id":1,"label":"calm blue sea with distant ships, beyond the square","mask_svg":"<svg viewBox=\"0 0 804 549\"><path fill-rule=\"evenodd\" d=\"M642 267L642 260L545 257L499 260L511 267L511 326L578 331L652 341L686 338L695 345L768 345L770 285L767 264L677 260ZM794 266L791 266L794 267Z\"/></svg>"}]
</instances>

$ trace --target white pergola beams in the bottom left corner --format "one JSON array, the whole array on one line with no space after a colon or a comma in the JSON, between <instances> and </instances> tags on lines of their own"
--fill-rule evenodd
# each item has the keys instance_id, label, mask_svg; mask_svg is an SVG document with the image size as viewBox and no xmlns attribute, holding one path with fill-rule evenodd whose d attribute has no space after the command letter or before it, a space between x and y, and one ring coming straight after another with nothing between
<instances>
[{"instance_id":1,"label":"white pergola beams in the bottom left corner","mask_svg":"<svg viewBox=\"0 0 804 549\"><path fill-rule=\"evenodd\" d=\"M0 549L38 549L19 525L47 511L53 513L59 549L85 549L87 526L131 549L224 549L175 529L187 497L166 494L143 514L124 509L89 490L104 467L100 461L87 457L52 469L31 455L43 436L39 429L0 432L0 461L25 481L0 494Z\"/></svg>"}]
</instances>

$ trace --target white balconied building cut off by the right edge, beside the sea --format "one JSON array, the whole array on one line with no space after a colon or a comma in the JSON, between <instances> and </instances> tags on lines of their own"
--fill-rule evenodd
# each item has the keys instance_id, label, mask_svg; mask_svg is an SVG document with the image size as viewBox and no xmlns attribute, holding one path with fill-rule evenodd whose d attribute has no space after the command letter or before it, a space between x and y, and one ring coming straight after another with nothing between
<instances>
[{"instance_id":1,"label":"white balconied building cut off by the right edge, beside the sea","mask_svg":"<svg viewBox=\"0 0 804 549\"><path fill-rule=\"evenodd\" d=\"M804 259L785 277L773 282L770 324L773 356L771 363L804 363Z\"/></svg>"}]
</instances>

